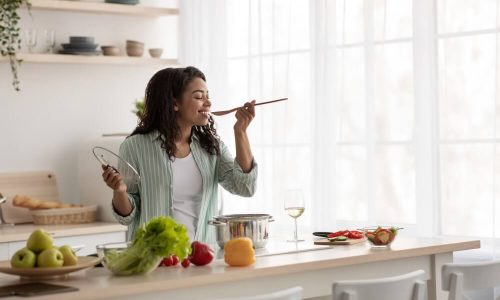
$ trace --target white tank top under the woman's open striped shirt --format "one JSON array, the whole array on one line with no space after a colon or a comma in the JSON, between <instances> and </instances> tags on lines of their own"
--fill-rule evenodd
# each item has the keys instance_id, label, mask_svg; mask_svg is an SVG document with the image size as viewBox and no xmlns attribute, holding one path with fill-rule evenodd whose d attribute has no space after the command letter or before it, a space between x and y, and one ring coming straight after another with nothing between
<instances>
[{"instance_id":1,"label":"white tank top under the woman's open striped shirt","mask_svg":"<svg viewBox=\"0 0 500 300\"><path fill-rule=\"evenodd\" d=\"M172 162L172 172L173 217L186 226L189 239L192 241L198 225L203 194L201 173L191 153L184 158L175 158Z\"/></svg>"}]
</instances>

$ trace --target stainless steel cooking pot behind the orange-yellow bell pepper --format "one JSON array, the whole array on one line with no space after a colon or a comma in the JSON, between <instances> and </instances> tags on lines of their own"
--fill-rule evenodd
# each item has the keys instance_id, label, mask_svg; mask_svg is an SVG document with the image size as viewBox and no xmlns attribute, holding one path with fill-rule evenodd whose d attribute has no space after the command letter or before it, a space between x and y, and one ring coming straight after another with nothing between
<instances>
[{"instance_id":1,"label":"stainless steel cooking pot behind the orange-yellow bell pepper","mask_svg":"<svg viewBox=\"0 0 500 300\"><path fill-rule=\"evenodd\" d=\"M254 248L264 248L269 238L269 222L273 221L266 214L236 214L214 217L208 224L215 226L217 244L222 249L227 241L237 237L251 238Z\"/></svg>"}]
</instances>

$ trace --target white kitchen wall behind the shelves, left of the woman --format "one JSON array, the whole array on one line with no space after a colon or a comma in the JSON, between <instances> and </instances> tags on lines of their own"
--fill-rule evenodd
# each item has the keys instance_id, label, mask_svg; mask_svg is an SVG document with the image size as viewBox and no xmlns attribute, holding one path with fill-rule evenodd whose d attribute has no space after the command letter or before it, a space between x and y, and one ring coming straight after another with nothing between
<instances>
[{"instance_id":1,"label":"white kitchen wall behind the shelves, left of the woman","mask_svg":"<svg viewBox=\"0 0 500 300\"><path fill-rule=\"evenodd\" d=\"M176 2L161 3L177 7ZM99 45L119 45L124 53L125 40L134 39L145 42L146 48L163 47L165 58L177 57L177 16L41 10L33 10L32 15L31 19L26 11L21 12L22 28L53 28L58 44L67 43L70 35L89 35ZM40 33L40 45L41 38ZM42 48L37 46L36 51ZM52 170L61 200L80 202L79 145L103 133L133 130L134 99L142 97L149 78L164 67L25 63L19 70L21 91L16 92L9 64L0 63L0 172Z\"/></svg>"}]
</instances>

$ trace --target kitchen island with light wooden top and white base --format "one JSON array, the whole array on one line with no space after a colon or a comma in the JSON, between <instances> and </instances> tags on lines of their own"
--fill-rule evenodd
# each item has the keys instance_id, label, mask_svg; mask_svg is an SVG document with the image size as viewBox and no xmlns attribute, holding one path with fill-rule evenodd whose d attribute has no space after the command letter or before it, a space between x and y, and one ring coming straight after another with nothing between
<instances>
[{"instance_id":1,"label":"kitchen island with light wooden top and white base","mask_svg":"<svg viewBox=\"0 0 500 300\"><path fill-rule=\"evenodd\" d=\"M112 276L105 268L93 268L49 281L77 287L78 292L31 299L214 299L297 285L304 288L304 298L330 299L335 280L394 276L422 269L428 279L429 299L441 300L446 299L446 293L441 291L441 266L452 262L453 252L479 247L478 240L398 237L387 249L373 249L364 242L267 253L257 257L250 267L228 267L218 259L204 267L161 267L148 275L130 277ZM23 281L0 275L2 286Z\"/></svg>"}]
</instances>

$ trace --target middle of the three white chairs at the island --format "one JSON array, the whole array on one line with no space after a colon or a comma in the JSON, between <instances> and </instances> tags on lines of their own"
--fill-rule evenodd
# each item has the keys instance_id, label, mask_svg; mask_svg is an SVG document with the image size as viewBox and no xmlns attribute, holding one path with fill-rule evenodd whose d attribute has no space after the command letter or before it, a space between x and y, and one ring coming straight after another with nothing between
<instances>
[{"instance_id":1,"label":"middle of the three white chairs at the island","mask_svg":"<svg viewBox=\"0 0 500 300\"><path fill-rule=\"evenodd\" d=\"M333 300L424 300L423 270L395 277L342 280L333 283Z\"/></svg>"}]
</instances>

